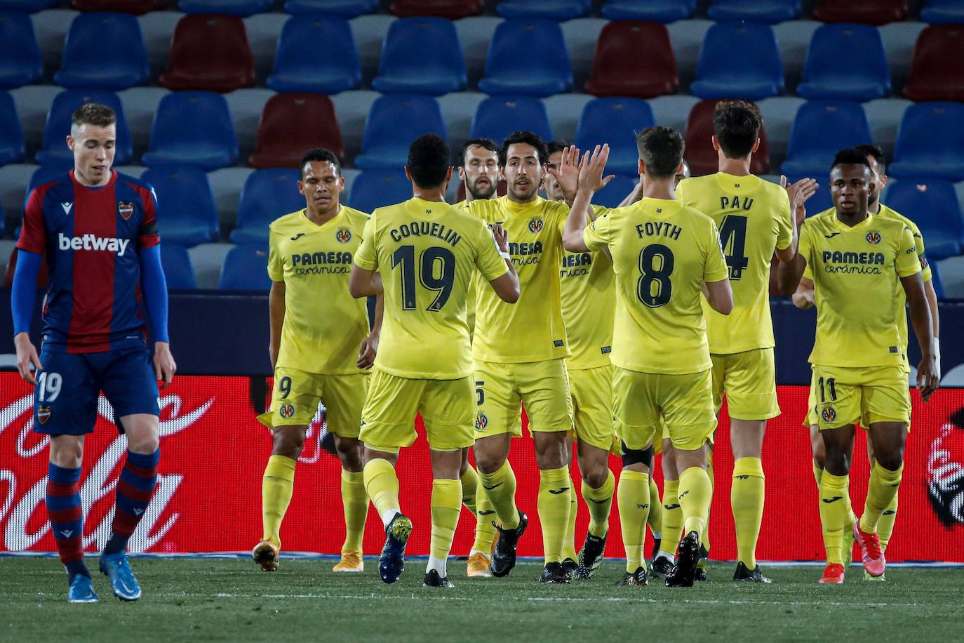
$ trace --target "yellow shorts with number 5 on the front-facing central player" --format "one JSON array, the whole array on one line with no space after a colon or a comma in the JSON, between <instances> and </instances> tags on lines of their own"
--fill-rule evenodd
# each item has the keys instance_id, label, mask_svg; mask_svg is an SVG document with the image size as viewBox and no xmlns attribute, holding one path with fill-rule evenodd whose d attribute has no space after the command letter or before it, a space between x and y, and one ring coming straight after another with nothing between
<instances>
[{"instance_id":1,"label":"yellow shorts with number 5 on the front-facing central player","mask_svg":"<svg viewBox=\"0 0 964 643\"><path fill-rule=\"evenodd\" d=\"M572 431L573 398L566 361L475 362L475 439L522 436L520 405L529 431Z\"/></svg>"}]
</instances>

